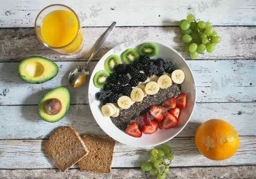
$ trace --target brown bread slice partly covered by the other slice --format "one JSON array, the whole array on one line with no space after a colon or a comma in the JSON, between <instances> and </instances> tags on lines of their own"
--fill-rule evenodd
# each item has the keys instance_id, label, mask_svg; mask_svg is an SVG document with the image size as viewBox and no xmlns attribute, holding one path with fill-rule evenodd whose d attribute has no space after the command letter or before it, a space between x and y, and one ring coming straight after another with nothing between
<instances>
[{"instance_id":1,"label":"brown bread slice partly covered by the other slice","mask_svg":"<svg viewBox=\"0 0 256 179\"><path fill-rule=\"evenodd\" d=\"M115 140L95 135L86 135L82 140L90 152L78 162L79 168L94 173L110 173Z\"/></svg>"}]
</instances>

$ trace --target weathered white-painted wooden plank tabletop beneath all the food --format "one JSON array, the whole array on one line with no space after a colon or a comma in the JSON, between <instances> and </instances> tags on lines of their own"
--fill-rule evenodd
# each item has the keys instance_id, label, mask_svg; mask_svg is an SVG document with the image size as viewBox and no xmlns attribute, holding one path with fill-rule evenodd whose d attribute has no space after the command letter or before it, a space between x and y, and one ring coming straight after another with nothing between
<instances>
[{"instance_id":1,"label":"weathered white-painted wooden plank tabletop beneath all the food","mask_svg":"<svg viewBox=\"0 0 256 179\"><path fill-rule=\"evenodd\" d=\"M77 55L61 55L44 47L34 34L39 10L50 4L66 4L80 16L84 49ZM175 157L168 178L256 178L256 1L0 1L0 178L148 178L139 169L151 147L117 143L109 175L82 172L75 165L59 172L45 155L44 146L59 126L72 125L81 135L105 135L91 114L88 85L73 89L65 118L48 123L37 115L37 103L49 89L68 86L68 73L112 21L117 21L110 39L91 64L124 41L152 39L168 44L187 60L196 78L195 113L184 130L167 142ZM187 13L210 20L222 38L212 54L191 60L184 52L177 20ZM31 55L56 61L58 75L43 84L29 84L17 75L18 62ZM230 122L239 132L237 153L224 161L211 161L195 147L198 125L210 118Z\"/></svg>"}]
</instances>

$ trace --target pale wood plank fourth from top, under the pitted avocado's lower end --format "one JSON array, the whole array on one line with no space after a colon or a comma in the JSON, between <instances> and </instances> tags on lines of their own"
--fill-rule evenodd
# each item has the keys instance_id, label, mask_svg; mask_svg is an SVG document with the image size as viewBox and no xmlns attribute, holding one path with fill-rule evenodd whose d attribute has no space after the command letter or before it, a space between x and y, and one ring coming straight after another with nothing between
<instances>
[{"instance_id":1,"label":"pale wood plank fourth from top, under the pitted avocado's lower end","mask_svg":"<svg viewBox=\"0 0 256 179\"><path fill-rule=\"evenodd\" d=\"M197 127L209 118L226 120L240 136L256 136L255 113L256 102L197 103L191 120L178 137L194 136ZM0 106L0 119L0 139L46 139L63 125L74 126L81 135L105 135L94 120L89 105L71 105L68 114L56 123L40 119L37 106Z\"/></svg>"}]
</instances>

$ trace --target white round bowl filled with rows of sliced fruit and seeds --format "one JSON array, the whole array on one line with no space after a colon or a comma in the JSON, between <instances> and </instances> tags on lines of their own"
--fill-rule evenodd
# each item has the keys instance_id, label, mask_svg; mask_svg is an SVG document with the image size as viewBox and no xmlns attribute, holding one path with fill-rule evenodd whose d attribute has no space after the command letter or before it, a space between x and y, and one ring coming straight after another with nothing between
<instances>
[{"instance_id":1,"label":"white round bowl filled with rows of sliced fruit and seeds","mask_svg":"<svg viewBox=\"0 0 256 179\"><path fill-rule=\"evenodd\" d=\"M101 129L123 144L162 144L188 123L196 85L184 58L156 42L122 43L97 63L89 104Z\"/></svg>"}]
</instances>

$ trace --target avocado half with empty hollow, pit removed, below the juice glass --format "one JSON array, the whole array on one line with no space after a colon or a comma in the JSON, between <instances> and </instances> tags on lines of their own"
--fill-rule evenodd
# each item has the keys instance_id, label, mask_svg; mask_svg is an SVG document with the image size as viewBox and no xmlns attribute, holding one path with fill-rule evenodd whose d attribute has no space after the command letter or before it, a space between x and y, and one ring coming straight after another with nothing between
<instances>
[{"instance_id":1,"label":"avocado half with empty hollow, pit removed, below the juice glass","mask_svg":"<svg viewBox=\"0 0 256 179\"><path fill-rule=\"evenodd\" d=\"M58 65L47 58L31 56L19 63L17 71L26 82L43 83L57 75Z\"/></svg>"}]
</instances>

